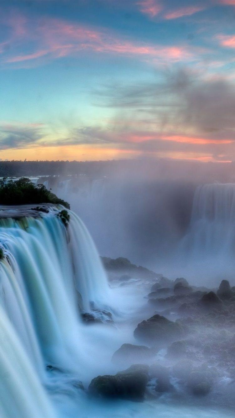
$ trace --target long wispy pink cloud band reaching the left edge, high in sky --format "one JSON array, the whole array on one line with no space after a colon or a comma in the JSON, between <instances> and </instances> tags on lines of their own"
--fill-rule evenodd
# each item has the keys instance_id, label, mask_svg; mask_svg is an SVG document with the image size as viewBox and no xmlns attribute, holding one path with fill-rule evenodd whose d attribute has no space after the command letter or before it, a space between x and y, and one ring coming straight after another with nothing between
<instances>
[{"instance_id":1,"label":"long wispy pink cloud band reaching the left edge, high in sky","mask_svg":"<svg viewBox=\"0 0 235 418\"><path fill-rule=\"evenodd\" d=\"M77 56L82 51L93 51L118 56L133 56L161 62L177 62L193 59L192 50L186 45L161 45L134 41L118 36L106 29L90 28L79 23L56 18L27 20L19 15L19 23L10 16L4 19L11 35L2 44L2 62L22 63L22 66L43 64L66 56ZM5 48L5 45L10 48ZM195 51L194 51L195 52Z\"/></svg>"}]
</instances>

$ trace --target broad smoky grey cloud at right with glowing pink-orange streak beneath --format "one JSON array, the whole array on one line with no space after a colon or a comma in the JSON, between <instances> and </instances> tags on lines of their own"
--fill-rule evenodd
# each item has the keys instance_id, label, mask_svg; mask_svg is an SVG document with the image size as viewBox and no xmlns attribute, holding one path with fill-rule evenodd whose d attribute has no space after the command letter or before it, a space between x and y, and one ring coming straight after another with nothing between
<instances>
[{"instance_id":1,"label":"broad smoky grey cloud at right with glowing pink-orange streak beneath","mask_svg":"<svg viewBox=\"0 0 235 418\"><path fill-rule=\"evenodd\" d=\"M106 129L84 130L84 141L235 160L235 86L230 80L181 69L166 71L155 83L109 85L103 96L94 94L100 98L98 105L106 102L116 116L107 121Z\"/></svg>"}]
</instances>

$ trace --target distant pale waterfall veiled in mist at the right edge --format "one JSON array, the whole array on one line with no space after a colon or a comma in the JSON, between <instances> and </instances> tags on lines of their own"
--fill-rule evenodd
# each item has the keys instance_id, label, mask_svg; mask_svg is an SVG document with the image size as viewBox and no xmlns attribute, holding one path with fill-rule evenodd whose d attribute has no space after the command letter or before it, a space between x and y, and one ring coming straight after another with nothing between
<instances>
[{"instance_id":1,"label":"distant pale waterfall veiled in mist at the right edge","mask_svg":"<svg viewBox=\"0 0 235 418\"><path fill-rule=\"evenodd\" d=\"M235 184L197 187L189 228L177 252L192 269L193 263L214 274L231 275L235 267Z\"/></svg>"}]
</instances>

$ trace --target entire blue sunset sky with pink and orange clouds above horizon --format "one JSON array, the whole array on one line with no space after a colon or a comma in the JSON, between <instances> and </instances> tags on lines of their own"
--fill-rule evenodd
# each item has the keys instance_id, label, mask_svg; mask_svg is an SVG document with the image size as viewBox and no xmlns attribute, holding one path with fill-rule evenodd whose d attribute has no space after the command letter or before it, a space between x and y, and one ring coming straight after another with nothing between
<instances>
[{"instance_id":1,"label":"entire blue sunset sky with pink and orange clouds above horizon","mask_svg":"<svg viewBox=\"0 0 235 418\"><path fill-rule=\"evenodd\" d=\"M235 161L235 0L1 0L0 158Z\"/></svg>"}]
</instances>

